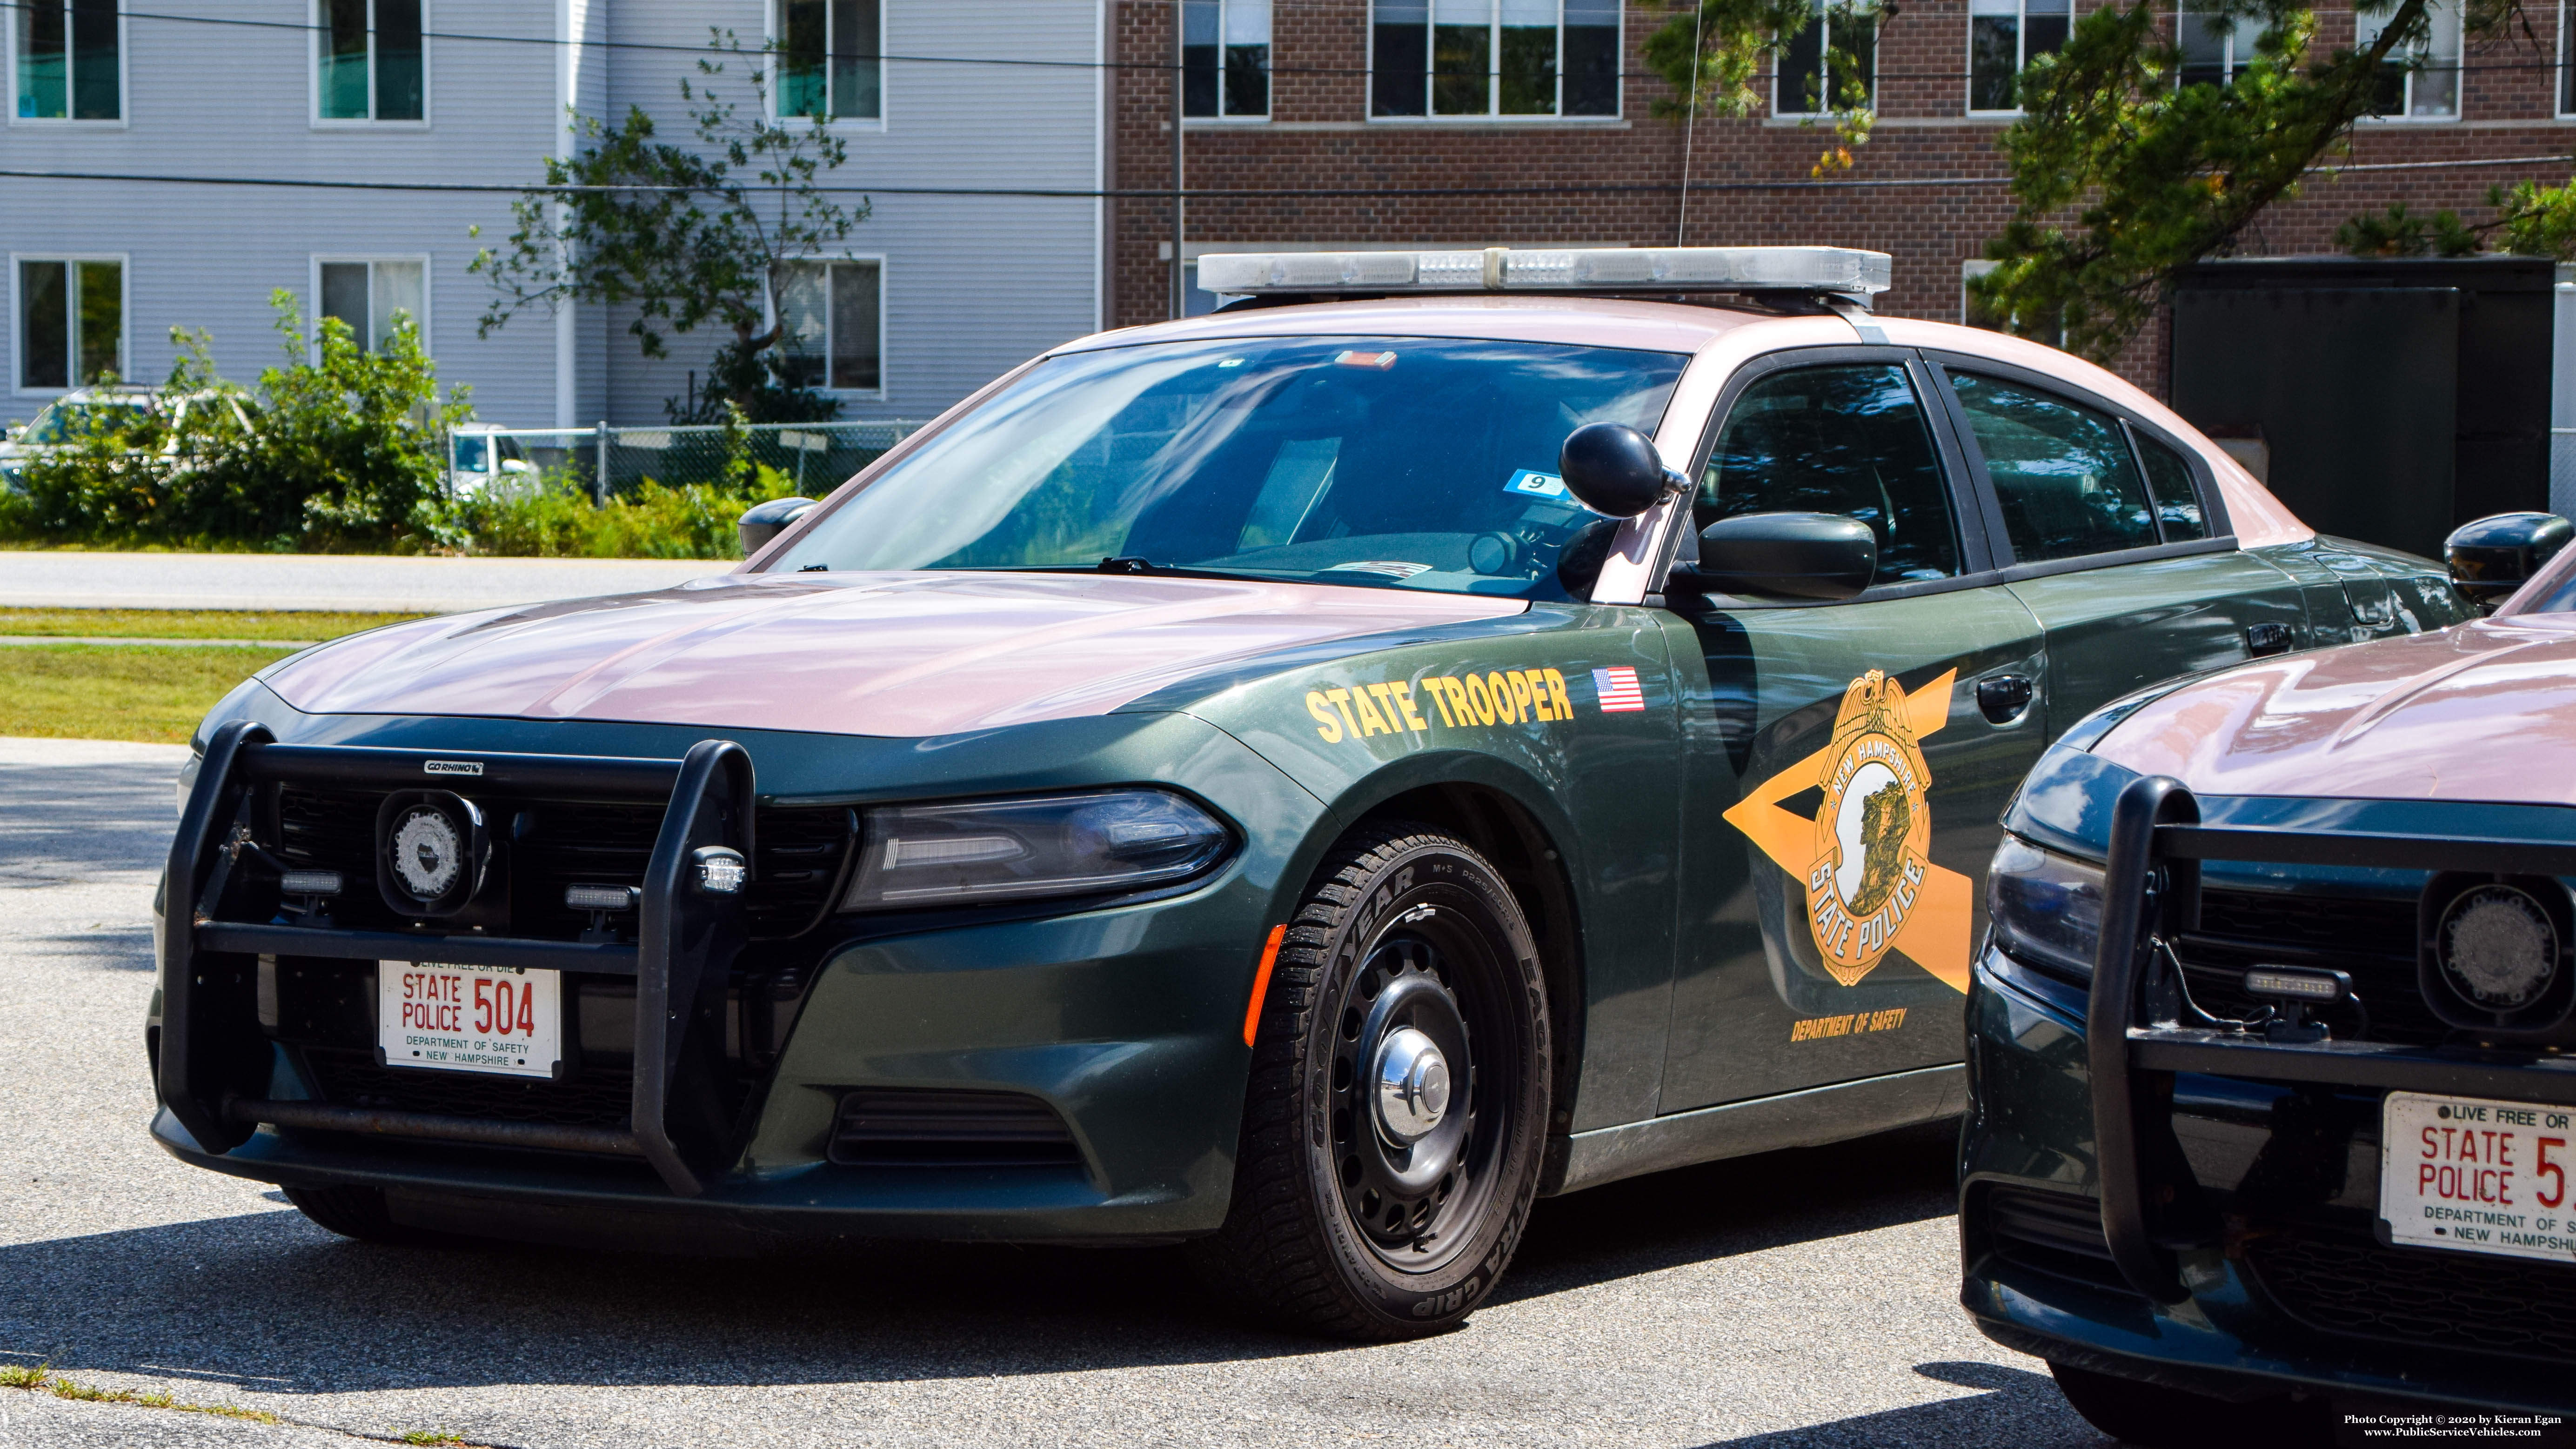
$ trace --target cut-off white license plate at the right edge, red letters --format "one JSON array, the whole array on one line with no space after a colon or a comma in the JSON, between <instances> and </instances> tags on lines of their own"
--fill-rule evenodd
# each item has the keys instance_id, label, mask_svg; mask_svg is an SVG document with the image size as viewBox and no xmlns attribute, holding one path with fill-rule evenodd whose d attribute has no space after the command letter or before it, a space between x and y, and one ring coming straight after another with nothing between
<instances>
[{"instance_id":1,"label":"cut-off white license plate at the right edge, red letters","mask_svg":"<svg viewBox=\"0 0 2576 1449\"><path fill-rule=\"evenodd\" d=\"M2380 1220L2414 1248L2576 1261L2576 1109L2391 1091Z\"/></svg>"}]
</instances>

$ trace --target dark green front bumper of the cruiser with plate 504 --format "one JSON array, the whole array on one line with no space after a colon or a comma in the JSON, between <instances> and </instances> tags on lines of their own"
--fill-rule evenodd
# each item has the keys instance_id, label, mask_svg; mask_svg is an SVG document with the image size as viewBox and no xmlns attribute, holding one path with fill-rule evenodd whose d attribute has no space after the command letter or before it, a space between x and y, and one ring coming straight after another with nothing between
<instances>
[{"instance_id":1,"label":"dark green front bumper of the cruiser with plate 504","mask_svg":"<svg viewBox=\"0 0 2576 1449\"><path fill-rule=\"evenodd\" d=\"M294 721L281 723L294 728ZM471 739L477 728L484 739ZM250 983L270 986L265 1011L273 1017L276 963L363 973L374 960L361 957L392 955L394 947L376 939L286 939L278 937L286 927L250 929L229 921L227 911L209 914L209 878L219 870L229 829L211 821L234 818L219 808L224 770L216 752L209 752L206 777L173 849L170 880L180 885L170 891L170 919L160 937L162 991L152 1040L162 1109L152 1135L180 1161L211 1171L286 1186L384 1186L397 1217L482 1223L513 1233L526 1223L556 1223L564 1228L556 1235L590 1238L592 1228L623 1225L644 1238L706 1246L737 1233L1133 1241L1213 1230L1226 1212L1242 1122L1249 1060L1242 1042L1244 999L1265 921L1278 919L1280 896L1291 891L1291 857L1324 821L1324 811L1239 744L1185 715L1082 721L1079 728L1092 749L1074 764L1092 782L1131 777L1193 788L1229 818L1255 821L1244 826L1242 852L1185 891L1074 906L1059 916L1030 911L1018 919L951 916L912 924L827 919L817 927L819 937L809 932L796 942L744 945L729 988L721 986L721 965L703 968L701 986L680 981L685 970L672 970L693 937L680 919L685 911L667 903L659 919L672 937L662 960L649 939L652 906L641 911L639 942L618 960L600 952L551 960L536 952L520 965L600 973L585 981L618 981L616 973L623 970L623 981L634 981L634 1117L621 1122L634 1143L616 1143L621 1132L608 1130L600 1132L608 1138L603 1150L569 1150L544 1132L538 1140L513 1140L507 1125L487 1130L487 1140L456 1140L453 1132L440 1138L435 1122L422 1130L417 1120L399 1114L363 1122L340 1109L337 1120L312 1120L312 1107L332 1107L332 1094L319 1089L301 1048L273 1042L268 1035L276 1032L263 1035L250 1024ZM451 721L440 736L469 741L438 749L492 749L505 744L502 734L497 723ZM1141 741L1131 749L1139 759L1118 762L1133 741ZM294 749L263 746L258 739L250 744L252 752L270 749L273 759L294 757ZM662 741L608 744L634 757L680 754ZM752 744L757 749L762 741ZM1028 754L1028 744L1020 744L1020 752L1007 741L994 752ZM832 770L855 772L853 757L876 746L909 741L845 741L835 749ZM969 749L961 746L933 764L971 770L971 759L958 759L963 754ZM770 757L786 757L775 775L793 788L799 759L786 752ZM505 772L500 757L487 759L492 777ZM922 790L891 775L894 770L878 770L881 790ZM765 772L760 785L770 782ZM670 790L670 782L659 788ZM984 788L984 780L971 780L969 788ZM994 788L1061 785L1005 777ZM685 834L670 824L677 816L680 808L672 806L665 829ZM417 950L428 960L474 960L528 947L531 942L448 934L438 945L402 950ZM567 942L551 950L572 947ZM760 975L765 952L796 957L786 975L801 983L778 1006L775 1053L762 1053L755 1063L734 1045L711 1050L711 1042L752 1040L742 963ZM649 1029L657 1017L657 970L667 975L659 996L672 1004L698 1001L701 1027L714 1027L714 1037L672 1029L659 1076ZM670 1019L685 1014L675 1009ZM703 1109L706 1094L693 1086L693 1060L701 1078L711 1063L739 1078L724 1112ZM835 1161L842 1099L858 1091L1005 1094L1036 1102L1048 1120L1061 1122L1072 1153L1020 1166ZM665 1135L659 1156L641 1150L657 1125Z\"/></svg>"}]
</instances>

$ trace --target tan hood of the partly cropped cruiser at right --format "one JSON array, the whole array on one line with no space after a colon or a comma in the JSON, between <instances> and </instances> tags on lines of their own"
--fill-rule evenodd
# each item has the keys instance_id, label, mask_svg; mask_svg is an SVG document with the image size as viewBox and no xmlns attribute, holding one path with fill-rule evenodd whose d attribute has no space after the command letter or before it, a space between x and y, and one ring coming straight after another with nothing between
<instances>
[{"instance_id":1,"label":"tan hood of the partly cropped cruiser at right","mask_svg":"<svg viewBox=\"0 0 2576 1449\"><path fill-rule=\"evenodd\" d=\"M2205 795L2576 806L2576 615L2517 615L2244 664L2094 744Z\"/></svg>"}]
</instances>

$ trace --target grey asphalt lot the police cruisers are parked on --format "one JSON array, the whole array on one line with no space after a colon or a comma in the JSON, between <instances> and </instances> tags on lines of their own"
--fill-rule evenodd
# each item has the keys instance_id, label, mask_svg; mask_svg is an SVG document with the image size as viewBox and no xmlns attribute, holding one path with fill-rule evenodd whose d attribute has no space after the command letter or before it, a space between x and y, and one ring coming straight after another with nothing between
<instances>
[{"instance_id":1,"label":"grey asphalt lot the police cruisers are parked on","mask_svg":"<svg viewBox=\"0 0 2576 1449\"><path fill-rule=\"evenodd\" d=\"M1953 1305L1942 1132L1543 1202L1499 1302L1373 1349L1229 1323L1157 1251L330 1238L144 1140L175 764L0 741L0 1364L289 1423L0 1390L0 1446L2105 1444Z\"/></svg>"}]
</instances>

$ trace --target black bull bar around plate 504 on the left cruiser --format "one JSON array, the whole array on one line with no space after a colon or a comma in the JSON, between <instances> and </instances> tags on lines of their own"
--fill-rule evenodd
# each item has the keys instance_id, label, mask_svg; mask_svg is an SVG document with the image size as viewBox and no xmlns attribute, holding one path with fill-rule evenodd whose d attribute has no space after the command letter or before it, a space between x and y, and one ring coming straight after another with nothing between
<instances>
[{"instance_id":1,"label":"black bull bar around plate 504 on the left cruiser","mask_svg":"<svg viewBox=\"0 0 2576 1449\"><path fill-rule=\"evenodd\" d=\"M636 945L510 939L482 932L343 932L237 919L252 896L255 875L273 867L273 857L258 842L263 785L438 788L456 780L428 772L428 762L459 757L482 764L471 785L479 790L667 800L644 872ZM265 726L224 723L206 741L196 790L170 842L157 1084L162 1104L211 1153L229 1153L268 1122L639 1156L675 1194L706 1192L732 1161L732 1122L719 1091L724 983L747 927L742 893L701 893L688 870L690 852L716 844L742 852L750 867L752 803L752 757L729 739L703 739L683 759L621 759L276 744ZM631 1120L623 1130L562 1127L270 1099L265 1096L270 1045L258 1022L260 955L631 975L636 981Z\"/></svg>"}]
</instances>

